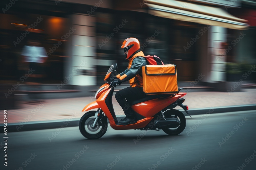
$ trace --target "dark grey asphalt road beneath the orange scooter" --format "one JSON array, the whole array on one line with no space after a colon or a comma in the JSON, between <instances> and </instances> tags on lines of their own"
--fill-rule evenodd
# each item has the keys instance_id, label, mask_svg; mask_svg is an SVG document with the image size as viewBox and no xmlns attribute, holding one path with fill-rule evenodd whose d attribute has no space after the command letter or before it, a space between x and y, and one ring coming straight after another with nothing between
<instances>
[{"instance_id":1,"label":"dark grey asphalt road beneath the orange scooter","mask_svg":"<svg viewBox=\"0 0 256 170\"><path fill-rule=\"evenodd\" d=\"M255 113L187 117L185 130L177 136L162 130L113 130L110 126L98 140L84 138L78 127L8 133L8 167L2 166L2 147L0 169L254 170Z\"/></svg>"}]
</instances>

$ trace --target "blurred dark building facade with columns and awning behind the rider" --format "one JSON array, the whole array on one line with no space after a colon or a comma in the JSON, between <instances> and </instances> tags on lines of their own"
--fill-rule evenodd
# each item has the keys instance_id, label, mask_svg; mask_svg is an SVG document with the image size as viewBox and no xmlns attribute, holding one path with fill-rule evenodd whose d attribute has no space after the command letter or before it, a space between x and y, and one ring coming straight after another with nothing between
<instances>
[{"instance_id":1,"label":"blurred dark building facade with columns and awning behind the rider","mask_svg":"<svg viewBox=\"0 0 256 170\"><path fill-rule=\"evenodd\" d=\"M20 0L0 15L6 63L0 77L19 79L26 71L20 64L22 48L37 39L48 53L44 83L102 84L111 63L118 63L120 72L126 69L120 47L127 37L136 37L145 55L177 65L179 82L225 81L227 56L233 53L230 34L249 27L246 19L228 12L240 7L240 1L225 0ZM43 20L23 36L37 17Z\"/></svg>"}]
</instances>

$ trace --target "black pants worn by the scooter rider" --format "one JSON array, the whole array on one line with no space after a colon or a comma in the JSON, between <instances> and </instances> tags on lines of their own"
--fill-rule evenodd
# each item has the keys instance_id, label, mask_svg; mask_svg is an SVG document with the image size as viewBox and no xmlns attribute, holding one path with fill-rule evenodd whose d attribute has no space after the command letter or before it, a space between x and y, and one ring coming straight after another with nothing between
<instances>
[{"instance_id":1,"label":"black pants worn by the scooter rider","mask_svg":"<svg viewBox=\"0 0 256 170\"><path fill-rule=\"evenodd\" d=\"M124 114L128 117L134 117L132 108L128 103L136 99L144 98L146 96L147 95L143 92L142 87L127 87L119 90L115 94L117 102L122 107Z\"/></svg>"}]
</instances>

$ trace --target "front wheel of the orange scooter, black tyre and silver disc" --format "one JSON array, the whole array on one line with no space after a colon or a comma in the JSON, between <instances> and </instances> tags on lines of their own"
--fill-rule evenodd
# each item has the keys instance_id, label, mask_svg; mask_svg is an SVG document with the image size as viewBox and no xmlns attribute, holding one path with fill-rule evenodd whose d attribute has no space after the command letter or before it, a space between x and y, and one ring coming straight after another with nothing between
<instances>
[{"instance_id":1,"label":"front wheel of the orange scooter, black tyre and silver disc","mask_svg":"<svg viewBox=\"0 0 256 170\"><path fill-rule=\"evenodd\" d=\"M79 130L81 134L88 139L99 139L106 133L108 128L108 122L105 116L98 120L95 127L93 127L95 120L94 115L95 111L87 112L79 121Z\"/></svg>"}]
</instances>

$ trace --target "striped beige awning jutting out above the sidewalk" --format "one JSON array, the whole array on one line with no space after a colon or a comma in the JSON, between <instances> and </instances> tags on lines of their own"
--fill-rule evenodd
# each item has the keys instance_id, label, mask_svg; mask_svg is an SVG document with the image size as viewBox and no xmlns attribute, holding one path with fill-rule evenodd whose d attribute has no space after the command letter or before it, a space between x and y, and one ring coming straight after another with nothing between
<instances>
[{"instance_id":1,"label":"striped beige awning jutting out above the sidewalk","mask_svg":"<svg viewBox=\"0 0 256 170\"><path fill-rule=\"evenodd\" d=\"M229 14L225 9L209 5L194 4L192 1L148 0L148 13L158 17L196 22L236 30L246 30L247 20Z\"/></svg>"}]
</instances>

